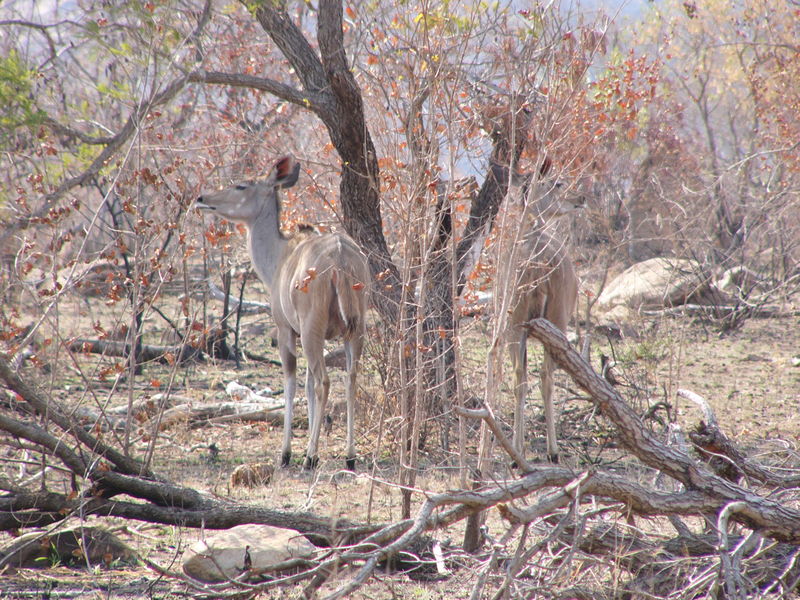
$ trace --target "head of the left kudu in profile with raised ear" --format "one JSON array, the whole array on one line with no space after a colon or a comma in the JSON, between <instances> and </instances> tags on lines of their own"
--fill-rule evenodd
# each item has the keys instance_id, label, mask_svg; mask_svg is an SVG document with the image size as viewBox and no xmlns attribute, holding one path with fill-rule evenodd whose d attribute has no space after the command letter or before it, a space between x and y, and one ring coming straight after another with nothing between
<instances>
[{"instance_id":1,"label":"head of the left kudu in profile with raised ear","mask_svg":"<svg viewBox=\"0 0 800 600\"><path fill-rule=\"evenodd\" d=\"M239 183L218 192L204 194L197 199L195 206L201 210L211 210L219 216L251 225L259 217L265 216L279 223L279 188L290 188L297 183L300 163L290 156L279 159L267 177Z\"/></svg>"}]
</instances>

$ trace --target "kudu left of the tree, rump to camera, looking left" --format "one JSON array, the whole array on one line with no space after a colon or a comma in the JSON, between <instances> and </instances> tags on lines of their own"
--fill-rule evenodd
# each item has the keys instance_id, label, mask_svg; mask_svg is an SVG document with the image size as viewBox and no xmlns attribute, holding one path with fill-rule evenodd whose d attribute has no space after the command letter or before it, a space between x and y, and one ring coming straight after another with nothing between
<instances>
[{"instance_id":1,"label":"kudu left of the tree, rump to camera, looking left","mask_svg":"<svg viewBox=\"0 0 800 600\"><path fill-rule=\"evenodd\" d=\"M299 171L298 163L284 157L265 179L201 196L196 206L246 226L250 260L270 291L286 398L281 464L287 466L291 460L297 338L300 337L308 363L309 438L305 467L315 468L330 387L323 346L325 340L341 337L347 362L346 466L354 470L356 372L364 344L369 271L358 246L343 233L305 230L292 237L281 233L277 192L293 186Z\"/></svg>"}]
</instances>

